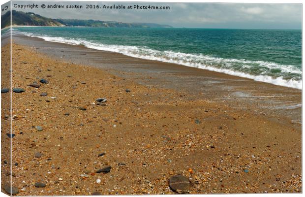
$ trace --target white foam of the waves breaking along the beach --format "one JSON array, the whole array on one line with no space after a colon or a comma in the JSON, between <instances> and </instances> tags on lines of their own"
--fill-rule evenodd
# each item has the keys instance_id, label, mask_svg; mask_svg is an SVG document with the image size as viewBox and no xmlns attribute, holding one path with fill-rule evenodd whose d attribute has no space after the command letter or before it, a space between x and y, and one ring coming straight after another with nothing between
<instances>
[{"instance_id":1,"label":"white foam of the waves breaking along the beach","mask_svg":"<svg viewBox=\"0 0 305 197\"><path fill-rule=\"evenodd\" d=\"M173 51L157 51L153 49L148 49L146 47L136 47L136 46L124 46L124 45L106 45L100 43L89 42L81 39L67 39L64 37L50 37L46 35L34 35L32 33L25 33L28 36L34 36L42 38L46 41L60 42L71 45L84 45L88 48L111 51L116 53L121 53L127 56L155 60L160 62L174 63L183 66L197 67L201 69L207 69L215 72L226 73L234 76L245 77L253 79L255 81L271 83L278 86L285 86L295 89L302 90L302 80L286 80L282 76L272 77L266 75L266 71L262 70L258 75L248 74L242 71L232 70L232 64L239 64L241 69L250 68L251 65L257 64L262 68L269 69L279 69L282 73L295 73L302 76L302 70L296 69L292 65L278 65L276 63L264 62L264 61L248 61L248 60L237 60L237 59L223 59L216 58L212 56L202 55L202 54L186 54L181 52Z\"/></svg>"}]
</instances>

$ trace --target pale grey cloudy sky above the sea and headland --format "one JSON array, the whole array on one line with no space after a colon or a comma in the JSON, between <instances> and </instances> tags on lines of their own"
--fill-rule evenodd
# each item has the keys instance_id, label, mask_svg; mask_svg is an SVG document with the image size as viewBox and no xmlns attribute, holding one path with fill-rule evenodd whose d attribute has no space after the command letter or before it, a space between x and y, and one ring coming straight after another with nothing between
<instances>
[{"instance_id":1,"label":"pale grey cloudy sky above the sea and headland","mask_svg":"<svg viewBox=\"0 0 305 197\"><path fill-rule=\"evenodd\" d=\"M105 3L60 1L13 1L12 5L38 4L39 8L14 8L49 18L167 24L175 28L301 29L301 4L246 3ZM83 5L82 9L41 8L45 5ZM86 4L170 6L169 10L86 9Z\"/></svg>"}]
</instances>

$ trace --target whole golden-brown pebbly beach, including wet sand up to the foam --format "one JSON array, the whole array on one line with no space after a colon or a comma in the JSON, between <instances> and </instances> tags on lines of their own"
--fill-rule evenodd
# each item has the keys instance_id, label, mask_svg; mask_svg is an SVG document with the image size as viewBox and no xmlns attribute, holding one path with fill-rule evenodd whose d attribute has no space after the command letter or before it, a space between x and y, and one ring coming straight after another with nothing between
<instances>
[{"instance_id":1,"label":"whole golden-brown pebbly beach, including wet sand up to the foam","mask_svg":"<svg viewBox=\"0 0 305 197\"><path fill-rule=\"evenodd\" d=\"M12 55L20 196L177 194L178 174L186 194L302 192L301 90L28 36Z\"/></svg>"}]
</instances>

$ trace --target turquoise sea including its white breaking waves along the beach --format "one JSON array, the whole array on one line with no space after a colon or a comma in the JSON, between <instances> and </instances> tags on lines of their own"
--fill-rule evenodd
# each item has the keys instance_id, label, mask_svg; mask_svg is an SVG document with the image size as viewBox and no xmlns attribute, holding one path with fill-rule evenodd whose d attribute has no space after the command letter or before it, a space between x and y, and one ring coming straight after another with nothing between
<instances>
[{"instance_id":1,"label":"turquoise sea including its white breaking waves along the beach","mask_svg":"<svg viewBox=\"0 0 305 197\"><path fill-rule=\"evenodd\" d=\"M14 27L13 32L302 89L301 30Z\"/></svg>"}]
</instances>

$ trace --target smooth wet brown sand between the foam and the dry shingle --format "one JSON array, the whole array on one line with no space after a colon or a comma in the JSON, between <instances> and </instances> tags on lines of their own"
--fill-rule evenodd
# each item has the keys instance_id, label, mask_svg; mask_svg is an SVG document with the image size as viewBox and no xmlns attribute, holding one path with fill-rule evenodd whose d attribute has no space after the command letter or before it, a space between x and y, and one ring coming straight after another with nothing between
<instances>
[{"instance_id":1,"label":"smooth wet brown sand between the foam and the dry shingle","mask_svg":"<svg viewBox=\"0 0 305 197\"><path fill-rule=\"evenodd\" d=\"M246 105L254 104L257 106L259 113L266 113L266 108L268 110L272 109L273 113L277 113L279 116L283 114L294 123L301 124L302 90L299 89L277 86L196 67L134 58L116 52L91 49L82 45L50 42L26 35L14 36L14 39L17 43L30 45L36 48L38 52L45 53L50 57L76 64L111 69L112 73L124 77L128 77L129 72L131 73L129 77L134 77L133 73L140 73L142 78L154 75L151 80L141 81L140 78L135 80L142 84L152 83L159 87L183 89L194 97L225 100L229 102L229 105L237 105L239 108L247 109L249 107ZM60 48L60 50L56 51L53 48ZM177 84L175 85L175 83ZM204 96L203 94L209 95Z\"/></svg>"}]
</instances>

